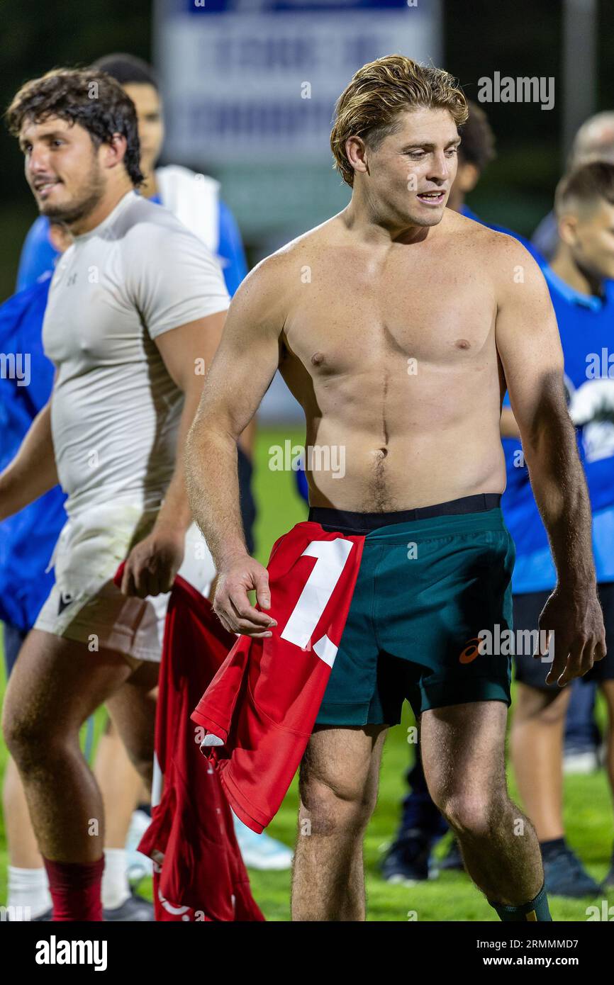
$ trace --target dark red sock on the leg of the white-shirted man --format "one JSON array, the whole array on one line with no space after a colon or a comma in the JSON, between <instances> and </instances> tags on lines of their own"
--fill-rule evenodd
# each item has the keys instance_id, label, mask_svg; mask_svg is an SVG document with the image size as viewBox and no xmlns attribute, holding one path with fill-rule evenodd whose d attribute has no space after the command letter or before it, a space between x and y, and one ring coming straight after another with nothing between
<instances>
[{"instance_id":1,"label":"dark red sock on the leg of the white-shirted man","mask_svg":"<svg viewBox=\"0 0 614 985\"><path fill-rule=\"evenodd\" d=\"M53 920L102 920L102 872L98 862L51 862L43 858L53 900Z\"/></svg>"}]
</instances>

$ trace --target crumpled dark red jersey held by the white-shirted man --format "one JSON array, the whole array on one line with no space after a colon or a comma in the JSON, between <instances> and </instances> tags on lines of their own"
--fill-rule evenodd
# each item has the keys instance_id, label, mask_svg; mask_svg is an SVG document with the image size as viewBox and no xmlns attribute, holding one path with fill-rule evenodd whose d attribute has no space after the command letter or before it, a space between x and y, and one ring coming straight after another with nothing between
<instances>
[{"instance_id":1,"label":"crumpled dark red jersey held by the white-shirted man","mask_svg":"<svg viewBox=\"0 0 614 985\"><path fill-rule=\"evenodd\" d=\"M122 567L115 576L121 579ZM190 710L235 636L182 578L171 591L156 710L162 791L139 851L154 861L159 921L264 920L249 887L220 777L199 752ZM155 783L155 786L157 784Z\"/></svg>"}]
</instances>

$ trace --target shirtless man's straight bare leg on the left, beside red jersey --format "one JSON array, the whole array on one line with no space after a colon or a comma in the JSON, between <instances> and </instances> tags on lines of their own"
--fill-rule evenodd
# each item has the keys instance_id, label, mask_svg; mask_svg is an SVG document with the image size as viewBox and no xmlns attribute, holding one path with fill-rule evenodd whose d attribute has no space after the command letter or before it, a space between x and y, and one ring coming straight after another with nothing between
<instances>
[{"instance_id":1,"label":"shirtless man's straight bare leg on the left, beside red jersey","mask_svg":"<svg viewBox=\"0 0 614 985\"><path fill-rule=\"evenodd\" d=\"M363 838L386 726L320 727L301 764L292 918L365 920Z\"/></svg>"}]
</instances>

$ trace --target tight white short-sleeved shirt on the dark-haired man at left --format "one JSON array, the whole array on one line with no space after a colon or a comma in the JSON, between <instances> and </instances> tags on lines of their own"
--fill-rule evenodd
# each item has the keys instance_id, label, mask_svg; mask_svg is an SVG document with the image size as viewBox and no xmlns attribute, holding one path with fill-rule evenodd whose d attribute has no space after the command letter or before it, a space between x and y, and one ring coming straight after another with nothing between
<instances>
[{"instance_id":1,"label":"tight white short-sleeved shirt on the dark-haired man at left","mask_svg":"<svg viewBox=\"0 0 614 985\"><path fill-rule=\"evenodd\" d=\"M53 275L42 329L57 370L51 430L70 517L110 500L160 506L183 396L154 340L229 303L203 243L135 192L75 237Z\"/></svg>"}]
</instances>

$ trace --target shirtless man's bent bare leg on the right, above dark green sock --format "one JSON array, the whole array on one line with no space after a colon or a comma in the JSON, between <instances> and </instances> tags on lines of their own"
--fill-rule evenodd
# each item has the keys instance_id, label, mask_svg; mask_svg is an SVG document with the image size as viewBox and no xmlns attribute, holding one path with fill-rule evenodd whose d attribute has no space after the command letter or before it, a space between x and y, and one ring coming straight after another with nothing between
<instances>
[{"instance_id":1,"label":"shirtless man's bent bare leg on the right, above dark green sock","mask_svg":"<svg viewBox=\"0 0 614 985\"><path fill-rule=\"evenodd\" d=\"M507 712L502 701L425 711L422 759L473 882L489 900L517 906L537 895L544 876L535 830L508 794Z\"/></svg>"}]
</instances>

